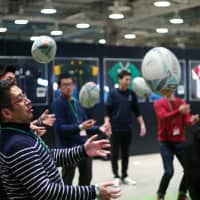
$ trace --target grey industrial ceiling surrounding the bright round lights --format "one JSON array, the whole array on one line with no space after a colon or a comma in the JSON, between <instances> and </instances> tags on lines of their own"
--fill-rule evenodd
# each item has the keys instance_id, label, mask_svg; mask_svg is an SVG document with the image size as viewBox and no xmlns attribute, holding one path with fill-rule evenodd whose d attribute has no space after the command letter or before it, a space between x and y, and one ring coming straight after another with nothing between
<instances>
[{"instance_id":1,"label":"grey industrial ceiling surrounding the bright round lights","mask_svg":"<svg viewBox=\"0 0 200 200\"><path fill-rule=\"evenodd\" d=\"M49 35L57 25L63 31L56 40L97 43L104 38L107 44L128 46L192 47L200 46L200 0L169 0L171 6L157 8L155 0L118 0L117 8L125 18L110 20L113 0L51 0L57 9L54 15L40 14L50 0L0 0L1 26L7 27L0 39L29 40L31 35ZM184 24L173 25L169 19L178 13ZM16 25L16 18L27 18L27 25ZM76 23L87 22L87 30L75 28ZM166 34L155 32L158 27L169 29ZM134 33L136 39L124 39Z\"/></svg>"}]
</instances>

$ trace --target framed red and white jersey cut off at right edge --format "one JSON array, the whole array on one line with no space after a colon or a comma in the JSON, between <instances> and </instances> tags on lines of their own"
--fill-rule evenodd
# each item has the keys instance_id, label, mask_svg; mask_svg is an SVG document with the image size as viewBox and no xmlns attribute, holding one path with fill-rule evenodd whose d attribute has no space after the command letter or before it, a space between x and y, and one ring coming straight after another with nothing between
<instances>
[{"instance_id":1,"label":"framed red and white jersey cut off at right edge","mask_svg":"<svg viewBox=\"0 0 200 200\"><path fill-rule=\"evenodd\" d=\"M200 60L189 61L189 100L200 101Z\"/></svg>"}]
</instances>

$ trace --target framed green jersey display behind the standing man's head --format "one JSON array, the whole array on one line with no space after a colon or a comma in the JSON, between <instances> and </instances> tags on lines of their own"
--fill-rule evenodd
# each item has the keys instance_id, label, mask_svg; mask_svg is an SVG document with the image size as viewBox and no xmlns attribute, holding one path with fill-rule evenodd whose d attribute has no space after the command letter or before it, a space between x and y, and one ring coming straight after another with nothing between
<instances>
[{"instance_id":1,"label":"framed green jersey display behind the standing man's head","mask_svg":"<svg viewBox=\"0 0 200 200\"><path fill-rule=\"evenodd\" d=\"M141 59L128 59L128 58L104 58L104 101L106 101L108 92L111 88L118 88L118 73L120 70L125 69L131 72L130 89L133 88L133 79L141 76ZM139 102L145 102L145 98L138 97Z\"/></svg>"}]
</instances>

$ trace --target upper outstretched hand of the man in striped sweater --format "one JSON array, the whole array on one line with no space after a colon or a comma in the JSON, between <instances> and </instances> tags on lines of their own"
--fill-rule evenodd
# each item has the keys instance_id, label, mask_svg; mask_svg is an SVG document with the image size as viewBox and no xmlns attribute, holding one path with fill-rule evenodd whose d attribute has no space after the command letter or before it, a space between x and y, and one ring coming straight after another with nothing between
<instances>
[{"instance_id":1,"label":"upper outstretched hand of the man in striped sweater","mask_svg":"<svg viewBox=\"0 0 200 200\"><path fill-rule=\"evenodd\" d=\"M110 142L107 139L96 140L98 135L93 135L84 144L85 152L88 156L101 156L105 157L110 154L110 151L104 148L110 147Z\"/></svg>"}]
</instances>

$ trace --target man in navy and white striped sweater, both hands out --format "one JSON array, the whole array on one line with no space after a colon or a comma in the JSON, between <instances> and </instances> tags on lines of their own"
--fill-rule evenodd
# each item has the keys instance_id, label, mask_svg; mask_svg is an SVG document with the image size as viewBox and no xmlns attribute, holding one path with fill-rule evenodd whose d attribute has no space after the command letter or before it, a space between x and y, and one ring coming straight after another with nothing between
<instances>
[{"instance_id":1,"label":"man in navy and white striped sweater, both hands out","mask_svg":"<svg viewBox=\"0 0 200 200\"><path fill-rule=\"evenodd\" d=\"M94 186L64 185L57 166L73 165L87 156L105 156L107 140L91 137L84 145L53 149L31 132L31 101L11 80L0 81L0 199L103 200L119 197L112 183ZM110 187L111 186L111 187Z\"/></svg>"}]
</instances>

